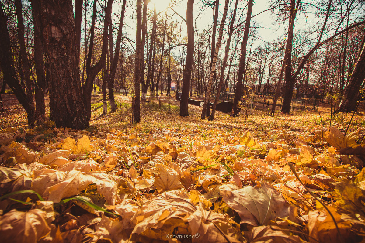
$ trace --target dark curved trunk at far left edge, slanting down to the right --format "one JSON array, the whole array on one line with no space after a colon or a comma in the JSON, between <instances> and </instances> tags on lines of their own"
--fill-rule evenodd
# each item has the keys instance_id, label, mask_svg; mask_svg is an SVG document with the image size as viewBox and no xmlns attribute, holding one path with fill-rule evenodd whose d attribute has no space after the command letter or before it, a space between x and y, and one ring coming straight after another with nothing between
<instances>
[{"instance_id":1,"label":"dark curved trunk at far left edge, slanting down to the right","mask_svg":"<svg viewBox=\"0 0 365 243\"><path fill-rule=\"evenodd\" d=\"M7 29L7 20L5 19L3 4L0 3L0 65L4 73L4 81L12 89L19 103L27 112L28 126L34 127L34 104L33 100L24 92L16 76L14 62L11 55L10 38Z\"/></svg>"}]
</instances>

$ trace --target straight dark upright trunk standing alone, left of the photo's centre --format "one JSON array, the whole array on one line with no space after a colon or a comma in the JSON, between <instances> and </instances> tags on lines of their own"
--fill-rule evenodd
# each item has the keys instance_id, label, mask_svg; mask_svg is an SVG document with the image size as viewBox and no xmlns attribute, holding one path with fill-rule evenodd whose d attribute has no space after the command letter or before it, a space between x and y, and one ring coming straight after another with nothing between
<instances>
[{"instance_id":1,"label":"straight dark upright trunk standing alone, left of the photo's centre","mask_svg":"<svg viewBox=\"0 0 365 243\"><path fill-rule=\"evenodd\" d=\"M140 122L141 115L139 114L139 105L140 105L140 92L141 92L141 35L142 35L142 2L141 0L137 0L137 28L136 28L136 53L135 53L135 61L134 61L134 102L133 102L133 115L132 115L132 123Z\"/></svg>"}]
</instances>

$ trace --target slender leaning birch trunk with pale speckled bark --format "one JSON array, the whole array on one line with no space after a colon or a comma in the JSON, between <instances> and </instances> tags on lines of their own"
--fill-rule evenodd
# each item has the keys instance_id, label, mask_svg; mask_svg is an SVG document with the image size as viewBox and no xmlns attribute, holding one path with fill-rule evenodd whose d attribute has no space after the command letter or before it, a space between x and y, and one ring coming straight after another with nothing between
<instances>
[{"instance_id":1,"label":"slender leaning birch trunk with pale speckled bark","mask_svg":"<svg viewBox=\"0 0 365 243\"><path fill-rule=\"evenodd\" d=\"M222 21L220 21L218 40L217 40L217 44L215 46L215 52L214 52L214 57L213 57L213 62L212 62L212 68L210 70L210 77L209 77L209 80L208 80L207 92L205 92L203 109L201 111L200 119L202 119L202 120L205 119L207 109L209 109L210 89L211 89L211 86L212 86L212 81L213 81L213 77L214 77L214 73L215 73L215 67L216 67L216 64L217 64L217 57L218 57L218 52L219 52L219 48L220 48L220 43L222 42L224 22L226 21L226 17L227 17L228 4L229 4L229 0L226 0L226 3L224 4L224 12L223 12L223 16L222 16ZM223 76L223 74L221 73L220 76Z\"/></svg>"}]
</instances>

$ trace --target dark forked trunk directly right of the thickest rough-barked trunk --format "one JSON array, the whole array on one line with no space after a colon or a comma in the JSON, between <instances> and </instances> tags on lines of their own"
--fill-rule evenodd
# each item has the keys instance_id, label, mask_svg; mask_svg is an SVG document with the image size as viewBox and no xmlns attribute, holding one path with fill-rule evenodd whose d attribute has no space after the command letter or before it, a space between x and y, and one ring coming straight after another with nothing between
<instances>
[{"instance_id":1,"label":"dark forked trunk directly right of the thickest rough-barked trunk","mask_svg":"<svg viewBox=\"0 0 365 243\"><path fill-rule=\"evenodd\" d=\"M108 0L107 6L105 8L105 18L104 18L104 29L103 29L103 45L101 48L101 54L99 61L91 66L91 58L93 56L93 45L94 45L94 32L95 32L95 18L96 18L96 2L94 0L93 5L93 15L91 20L91 34L90 34L90 45L89 45L89 53L86 61L86 81L83 87L84 94L84 103L86 105L87 117L88 120L91 118L91 92L92 92L92 84L95 76L100 72L101 68L105 65L105 57L108 51L108 37L109 37L109 19L111 16L112 4L113 0Z\"/></svg>"}]
</instances>

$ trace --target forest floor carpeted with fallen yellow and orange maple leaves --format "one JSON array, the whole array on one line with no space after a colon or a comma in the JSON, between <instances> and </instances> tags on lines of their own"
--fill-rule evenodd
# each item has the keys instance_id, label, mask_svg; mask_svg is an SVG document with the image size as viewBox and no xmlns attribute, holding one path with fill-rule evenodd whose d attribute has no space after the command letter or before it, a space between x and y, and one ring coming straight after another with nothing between
<instances>
[{"instance_id":1,"label":"forest floor carpeted with fallen yellow and orange maple leaves","mask_svg":"<svg viewBox=\"0 0 365 243\"><path fill-rule=\"evenodd\" d=\"M103 115L96 95L80 131L29 130L14 94L3 101L6 242L364 240L363 107L343 136L352 114L331 117L328 104L247 119L218 111L211 122L193 105L180 117L176 98L163 96L142 102L132 125L130 96Z\"/></svg>"}]
</instances>

